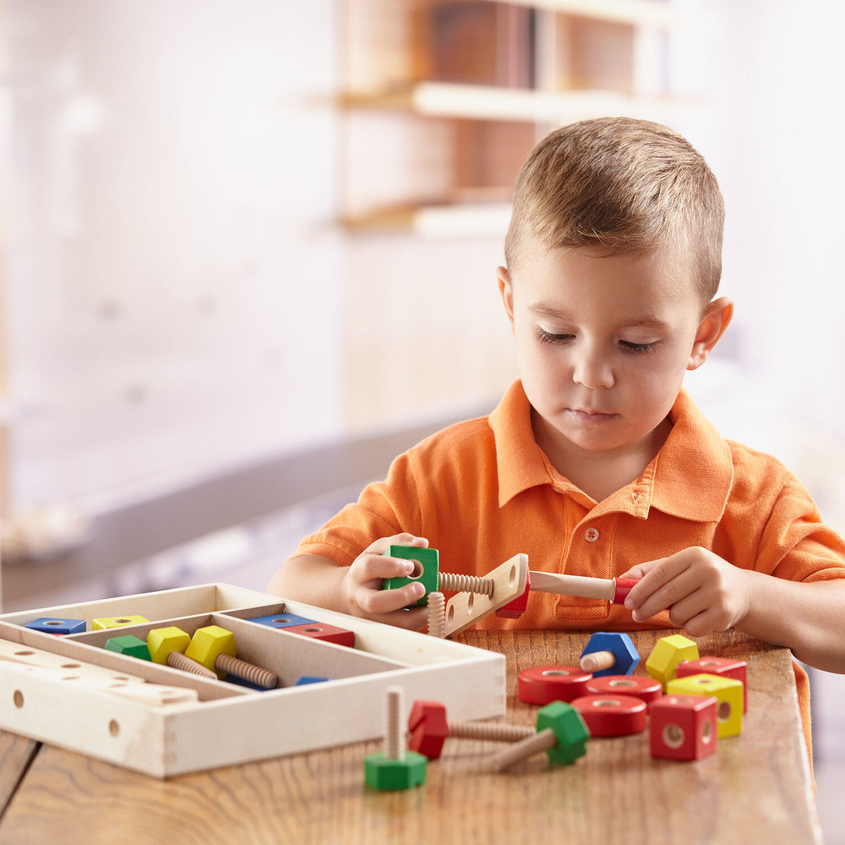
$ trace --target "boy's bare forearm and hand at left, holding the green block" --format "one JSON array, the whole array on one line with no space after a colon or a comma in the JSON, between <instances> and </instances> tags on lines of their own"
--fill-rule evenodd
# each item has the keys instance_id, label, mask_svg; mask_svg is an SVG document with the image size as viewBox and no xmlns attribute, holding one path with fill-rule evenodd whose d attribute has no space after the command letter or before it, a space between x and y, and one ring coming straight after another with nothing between
<instances>
[{"instance_id":1,"label":"boy's bare forearm and hand at left, holding the green block","mask_svg":"<svg viewBox=\"0 0 845 845\"><path fill-rule=\"evenodd\" d=\"M425 608L403 609L422 597L425 589L419 581L395 590L381 588L384 578L410 575L414 569L410 560L384 557L384 550L393 544L424 548L428 541L412 534L381 537L364 549L351 566L341 566L317 554L299 555L276 572L267 591L375 622L412 630L423 628Z\"/></svg>"}]
</instances>

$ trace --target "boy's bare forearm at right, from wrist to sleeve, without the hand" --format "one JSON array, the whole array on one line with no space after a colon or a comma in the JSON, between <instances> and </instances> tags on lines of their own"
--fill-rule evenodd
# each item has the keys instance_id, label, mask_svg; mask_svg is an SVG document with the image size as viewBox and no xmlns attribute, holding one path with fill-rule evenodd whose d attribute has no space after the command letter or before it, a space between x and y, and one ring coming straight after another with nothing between
<instances>
[{"instance_id":1,"label":"boy's bare forearm at right, from wrist to sleeve, without the hand","mask_svg":"<svg viewBox=\"0 0 845 845\"><path fill-rule=\"evenodd\" d=\"M845 673L845 580L804 583L747 574L751 604L736 629L787 646L810 666Z\"/></svg>"}]
</instances>

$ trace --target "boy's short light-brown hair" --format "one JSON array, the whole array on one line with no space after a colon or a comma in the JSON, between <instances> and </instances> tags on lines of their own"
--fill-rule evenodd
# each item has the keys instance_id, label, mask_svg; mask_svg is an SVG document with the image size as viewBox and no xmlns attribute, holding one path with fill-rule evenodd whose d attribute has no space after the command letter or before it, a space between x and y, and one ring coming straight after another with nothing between
<instances>
[{"instance_id":1,"label":"boy's short light-brown hair","mask_svg":"<svg viewBox=\"0 0 845 845\"><path fill-rule=\"evenodd\" d=\"M709 303L724 215L716 177L689 141L660 123L600 117L556 129L532 150L516 177L504 256L512 272L526 237L610 253L669 246L690 256Z\"/></svg>"}]
</instances>

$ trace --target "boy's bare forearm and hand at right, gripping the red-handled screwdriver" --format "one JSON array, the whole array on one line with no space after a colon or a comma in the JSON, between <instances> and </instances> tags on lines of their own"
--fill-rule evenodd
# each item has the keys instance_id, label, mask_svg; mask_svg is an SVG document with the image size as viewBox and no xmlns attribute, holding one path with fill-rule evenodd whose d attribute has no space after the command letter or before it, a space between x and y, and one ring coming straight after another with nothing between
<instances>
[{"instance_id":1,"label":"boy's bare forearm and hand at right, gripping the red-handled screwdriver","mask_svg":"<svg viewBox=\"0 0 845 845\"><path fill-rule=\"evenodd\" d=\"M845 579L788 581L728 564L705 548L632 567L635 622L668 610L691 636L735 628L827 672L845 673Z\"/></svg>"}]
</instances>

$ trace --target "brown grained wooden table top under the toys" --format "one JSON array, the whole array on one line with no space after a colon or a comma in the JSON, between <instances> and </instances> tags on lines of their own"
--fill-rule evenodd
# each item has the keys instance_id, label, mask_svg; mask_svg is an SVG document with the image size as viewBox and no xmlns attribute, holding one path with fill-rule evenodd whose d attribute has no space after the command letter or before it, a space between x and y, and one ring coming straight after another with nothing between
<instances>
[{"instance_id":1,"label":"brown grained wooden table top under the toys","mask_svg":"<svg viewBox=\"0 0 845 845\"><path fill-rule=\"evenodd\" d=\"M631 636L647 655L666 634ZM577 665L586 635L467 631L458 639L508 658L508 720L532 724L537 707L516 700L516 673ZM789 651L733 632L698 643L702 655L749 661L744 731L703 760L652 759L646 731L591 739L572 766L540 755L497 775L487 766L499 744L447 740L423 787L378 793L363 785L363 758L378 742L162 782L0 732L0 842L814 842Z\"/></svg>"}]
</instances>

